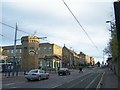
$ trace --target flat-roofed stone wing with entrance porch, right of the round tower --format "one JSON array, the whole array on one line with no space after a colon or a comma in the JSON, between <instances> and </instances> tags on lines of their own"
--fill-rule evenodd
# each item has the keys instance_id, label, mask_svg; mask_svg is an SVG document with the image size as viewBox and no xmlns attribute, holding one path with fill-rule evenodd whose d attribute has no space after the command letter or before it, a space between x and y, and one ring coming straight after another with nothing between
<instances>
[{"instance_id":1,"label":"flat-roofed stone wing with entrance porch, right of the round tower","mask_svg":"<svg viewBox=\"0 0 120 90\"><path fill-rule=\"evenodd\" d=\"M56 44L39 44L39 63L40 67L58 70L62 67L62 47Z\"/></svg>"}]
</instances>

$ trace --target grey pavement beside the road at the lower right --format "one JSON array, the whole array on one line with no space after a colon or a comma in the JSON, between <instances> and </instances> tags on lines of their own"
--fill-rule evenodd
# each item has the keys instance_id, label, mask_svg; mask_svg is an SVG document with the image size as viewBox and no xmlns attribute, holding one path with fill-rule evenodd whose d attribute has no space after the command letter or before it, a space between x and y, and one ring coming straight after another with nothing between
<instances>
[{"instance_id":1,"label":"grey pavement beside the road at the lower right","mask_svg":"<svg viewBox=\"0 0 120 90\"><path fill-rule=\"evenodd\" d=\"M98 90L103 89L114 89L114 90L120 90L120 82L118 80L118 77L114 74L112 70L108 70L108 68L105 70L103 77L101 78L101 81L99 82Z\"/></svg>"}]
</instances>

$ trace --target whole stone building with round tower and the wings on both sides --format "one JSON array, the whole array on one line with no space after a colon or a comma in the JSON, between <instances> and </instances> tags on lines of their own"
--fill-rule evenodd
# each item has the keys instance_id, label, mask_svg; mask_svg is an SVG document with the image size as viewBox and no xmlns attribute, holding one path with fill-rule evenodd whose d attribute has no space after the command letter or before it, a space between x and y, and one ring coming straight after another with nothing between
<instances>
[{"instance_id":1,"label":"whole stone building with round tower and the wings on both sides","mask_svg":"<svg viewBox=\"0 0 120 90\"><path fill-rule=\"evenodd\" d=\"M20 61L21 70L29 71L38 67L51 67L57 70L62 67L62 47L56 44L40 43L40 38L36 36L23 36L22 45L16 45L16 60ZM13 62L14 46L4 46L1 48L2 57L7 56L7 60Z\"/></svg>"}]
</instances>

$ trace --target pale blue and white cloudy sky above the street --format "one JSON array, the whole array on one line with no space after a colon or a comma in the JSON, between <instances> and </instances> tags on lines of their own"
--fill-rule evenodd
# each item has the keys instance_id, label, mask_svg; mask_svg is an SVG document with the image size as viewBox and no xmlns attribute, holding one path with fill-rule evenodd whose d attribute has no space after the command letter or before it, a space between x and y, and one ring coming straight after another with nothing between
<instances>
[{"instance_id":1,"label":"pale blue and white cloudy sky above the street","mask_svg":"<svg viewBox=\"0 0 120 90\"><path fill-rule=\"evenodd\" d=\"M64 44L76 51L93 56L95 61L103 61L103 49L110 38L110 24L106 20L113 19L114 0L64 0L77 17L92 41L75 21L62 0L2 0L0 5L0 21L29 34L18 31L17 39L25 35L47 37L41 43ZM14 44L14 29L1 25L1 45ZM17 41L17 44L21 44Z\"/></svg>"}]
</instances>

